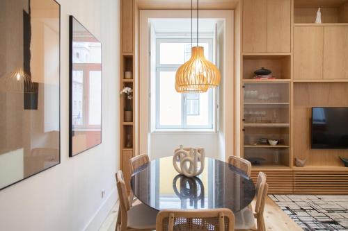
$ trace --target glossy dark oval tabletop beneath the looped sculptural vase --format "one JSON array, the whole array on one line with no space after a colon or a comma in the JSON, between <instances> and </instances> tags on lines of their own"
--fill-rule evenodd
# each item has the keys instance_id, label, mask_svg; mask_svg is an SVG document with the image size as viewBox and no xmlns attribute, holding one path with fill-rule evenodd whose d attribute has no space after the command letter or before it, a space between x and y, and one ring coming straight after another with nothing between
<instances>
[{"instance_id":1,"label":"glossy dark oval tabletop beneath the looped sculptural vase","mask_svg":"<svg viewBox=\"0 0 348 231\"><path fill-rule=\"evenodd\" d=\"M179 175L173 157L152 160L136 169L131 187L141 202L157 210L226 207L238 212L255 196L255 185L243 171L209 157L194 178Z\"/></svg>"}]
</instances>

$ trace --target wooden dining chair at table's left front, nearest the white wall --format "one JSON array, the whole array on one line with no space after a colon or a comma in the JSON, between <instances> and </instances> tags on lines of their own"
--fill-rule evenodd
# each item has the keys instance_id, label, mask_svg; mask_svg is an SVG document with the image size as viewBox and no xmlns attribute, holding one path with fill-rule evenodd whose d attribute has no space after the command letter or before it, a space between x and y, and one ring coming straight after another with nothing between
<instances>
[{"instance_id":1,"label":"wooden dining chair at table's left front, nearest the white wall","mask_svg":"<svg viewBox=\"0 0 348 231\"><path fill-rule=\"evenodd\" d=\"M150 231L156 228L157 210L139 203L130 207L122 171L116 173L117 191L120 201L116 231Z\"/></svg>"}]
</instances>

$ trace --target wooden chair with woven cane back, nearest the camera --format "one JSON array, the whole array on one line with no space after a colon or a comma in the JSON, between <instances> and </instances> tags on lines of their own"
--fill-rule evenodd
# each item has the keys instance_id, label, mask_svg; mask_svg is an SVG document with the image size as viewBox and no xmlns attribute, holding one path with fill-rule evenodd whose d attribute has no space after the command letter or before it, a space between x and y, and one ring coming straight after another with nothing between
<instances>
[{"instance_id":1,"label":"wooden chair with woven cane back, nearest the camera","mask_svg":"<svg viewBox=\"0 0 348 231\"><path fill-rule=\"evenodd\" d=\"M161 210L156 231L235 230L235 216L230 209Z\"/></svg>"}]
</instances>

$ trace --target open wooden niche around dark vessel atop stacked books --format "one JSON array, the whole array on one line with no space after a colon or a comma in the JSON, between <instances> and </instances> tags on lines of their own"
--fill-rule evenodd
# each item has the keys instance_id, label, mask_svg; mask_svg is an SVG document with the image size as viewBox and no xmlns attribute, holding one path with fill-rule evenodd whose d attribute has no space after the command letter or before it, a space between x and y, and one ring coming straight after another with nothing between
<instances>
[{"instance_id":1,"label":"open wooden niche around dark vessel atop stacked books","mask_svg":"<svg viewBox=\"0 0 348 231\"><path fill-rule=\"evenodd\" d=\"M272 71L276 79L291 78L290 55L244 55L243 79L253 79L254 71L261 67Z\"/></svg>"}]
</instances>

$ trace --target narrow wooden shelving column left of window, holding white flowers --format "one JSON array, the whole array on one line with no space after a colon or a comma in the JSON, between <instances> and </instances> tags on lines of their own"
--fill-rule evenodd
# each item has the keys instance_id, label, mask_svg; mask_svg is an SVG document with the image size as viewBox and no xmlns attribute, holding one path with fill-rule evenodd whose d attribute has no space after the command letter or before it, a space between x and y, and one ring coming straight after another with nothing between
<instances>
[{"instance_id":1,"label":"narrow wooden shelving column left of window, holding white flowers","mask_svg":"<svg viewBox=\"0 0 348 231\"><path fill-rule=\"evenodd\" d=\"M129 159L135 153L136 146L136 55L135 55L135 15L136 1L120 1L120 90L123 87L133 89L132 99L120 96L120 169L122 169L127 189L130 190ZM125 78L125 72L131 71L132 78ZM130 119L125 119L125 110L131 111ZM128 115L127 115L128 116Z\"/></svg>"}]
</instances>

